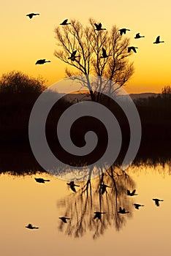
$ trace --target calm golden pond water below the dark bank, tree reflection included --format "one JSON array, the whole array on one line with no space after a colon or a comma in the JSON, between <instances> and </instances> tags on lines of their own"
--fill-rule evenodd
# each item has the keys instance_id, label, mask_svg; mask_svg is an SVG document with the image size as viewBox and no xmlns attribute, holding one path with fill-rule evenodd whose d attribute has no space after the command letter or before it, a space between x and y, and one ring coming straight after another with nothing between
<instances>
[{"instance_id":1,"label":"calm golden pond water below the dark bank, tree reflection included","mask_svg":"<svg viewBox=\"0 0 171 256\"><path fill-rule=\"evenodd\" d=\"M170 173L169 162L132 166L128 176L115 168L114 180L109 170L88 189L75 181L76 193L45 173L1 173L1 255L170 255ZM50 182L39 184L35 177ZM110 187L100 196L102 178ZM129 197L126 189L138 195ZM164 201L157 207L153 198ZM134 203L144 207L137 210ZM119 206L129 214L118 214ZM105 212L101 221L94 219L99 210ZM62 216L71 219L65 224ZM28 230L28 223L39 229Z\"/></svg>"}]
</instances>

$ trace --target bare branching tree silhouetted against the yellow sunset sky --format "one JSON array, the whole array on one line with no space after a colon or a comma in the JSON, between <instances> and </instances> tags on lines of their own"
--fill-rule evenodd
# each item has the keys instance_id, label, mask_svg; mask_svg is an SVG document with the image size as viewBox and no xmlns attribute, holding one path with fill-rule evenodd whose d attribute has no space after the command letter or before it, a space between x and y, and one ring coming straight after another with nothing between
<instances>
[{"instance_id":1,"label":"bare branching tree silhouetted against the yellow sunset sky","mask_svg":"<svg viewBox=\"0 0 171 256\"><path fill-rule=\"evenodd\" d=\"M84 28L79 21L71 20L70 25L58 26L55 33L59 49L54 54L72 67L72 70L66 69L67 77L86 75L83 86L88 88L91 99L99 102L104 91L113 94L123 86L134 68L127 58L132 54L128 53L129 39L121 37L116 26L110 31L96 31L96 20L90 19L89 23ZM99 76L99 82L93 85L88 75ZM107 78L107 82L102 82L101 77Z\"/></svg>"}]
</instances>

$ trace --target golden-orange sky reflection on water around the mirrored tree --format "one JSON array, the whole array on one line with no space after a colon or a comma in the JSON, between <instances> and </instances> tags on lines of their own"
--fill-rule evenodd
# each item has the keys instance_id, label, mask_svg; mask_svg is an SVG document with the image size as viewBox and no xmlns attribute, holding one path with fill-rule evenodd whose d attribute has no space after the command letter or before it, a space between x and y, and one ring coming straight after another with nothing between
<instances>
[{"instance_id":1,"label":"golden-orange sky reflection on water around the mirrored tree","mask_svg":"<svg viewBox=\"0 0 171 256\"><path fill-rule=\"evenodd\" d=\"M161 252L169 255L171 178L168 169L168 166L164 169L161 166L130 168L129 175L136 184L138 195L127 200L130 205L141 203L145 207L136 210L132 206L132 218L124 217L126 223L119 232L111 225L96 241L89 231L77 239L58 231L61 223L58 217L64 214L58 202L67 195L72 195L70 198L75 195L65 181L44 174L41 177L50 178L50 182L38 184L34 176L18 178L1 174L1 252L26 256L58 253L157 256ZM154 205L154 197L164 200L160 207ZM28 223L38 226L39 230L26 229Z\"/></svg>"}]
</instances>

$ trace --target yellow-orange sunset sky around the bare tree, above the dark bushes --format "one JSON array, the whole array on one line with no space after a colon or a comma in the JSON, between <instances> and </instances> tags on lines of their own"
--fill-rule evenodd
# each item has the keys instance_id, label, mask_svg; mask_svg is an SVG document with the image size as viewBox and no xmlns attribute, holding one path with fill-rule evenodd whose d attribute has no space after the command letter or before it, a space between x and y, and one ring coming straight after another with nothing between
<instances>
[{"instance_id":1,"label":"yellow-orange sunset sky around the bare tree, above the dark bushes","mask_svg":"<svg viewBox=\"0 0 171 256\"><path fill-rule=\"evenodd\" d=\"M53 54L58 48L54 29L66 18L80 20L85 26L94 18L106 29L113 25L130 29L126 36L138 47L129 57L135 71L124 89L128 93L159 93L171 85L170 10L170 0L1 0L0 76L19 70L45 78L47 86L63 79L67 66ZM26 15L30 12L40 15L29 19ZM134 39L138 32L145 38ZM159 35L164 43L153 45ZM37 59L51 63L35 65Z\"/></svg>"}]
</instances>

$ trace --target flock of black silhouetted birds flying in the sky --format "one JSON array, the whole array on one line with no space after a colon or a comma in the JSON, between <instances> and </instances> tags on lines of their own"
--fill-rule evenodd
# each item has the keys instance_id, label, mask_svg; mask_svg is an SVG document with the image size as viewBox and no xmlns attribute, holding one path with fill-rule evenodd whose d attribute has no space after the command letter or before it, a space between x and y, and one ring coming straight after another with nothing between
<instances>
[{"instance_id":1,"label":"flock of black silhouetted birds flying in the sky","mask_svg":"<svg viewBox=\"0 0 171 256\"><path fill-rule=\"evenodd\" d=\"M27 14L26 16L28 16L30 19L33 18L35 15L39 15L39 13L29 13ZM64 20L62 23L60 23L61 26L67 26L71 23L68 22L68 19ZM95 26L95 31L102 31L102 30L106 30L104 28L102 28L102 23L99 23L99 24L96 24L94 23L94 26ZM130 29L118 29L118 31L120 32L120 35L122 36L123 34L126 34L126 31L130 31ZM145 36L141 36L140 33L137 33L134 37L134 39L140 39L142 37L145 37ZM161 42L164 42L164 41L160 41L160 36L156 37L156 41L153 42L153 44L159 44ZM134 51L134 53L137 53L137 47L135 46L129 46L128 47L128 53L130 53L131 50ZM80 56L76 56L76 53L77 53L77 50L74 50L72 53L71 53L71 56L68 57L68 59L70 59L71 61L75 61L76 58L80 58ZM106 50L104 48L102 48L102 56L100 57L100 59L105 59L105 58L108 58L109 56L111 56L111 54L107 55L106 53ZM51 61L46 61L46 59L39 59L36 64L45 64L46 62L51 62Z\"/></svg>"}]
</instances>

